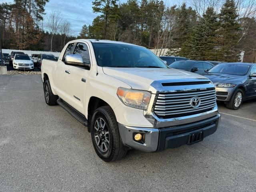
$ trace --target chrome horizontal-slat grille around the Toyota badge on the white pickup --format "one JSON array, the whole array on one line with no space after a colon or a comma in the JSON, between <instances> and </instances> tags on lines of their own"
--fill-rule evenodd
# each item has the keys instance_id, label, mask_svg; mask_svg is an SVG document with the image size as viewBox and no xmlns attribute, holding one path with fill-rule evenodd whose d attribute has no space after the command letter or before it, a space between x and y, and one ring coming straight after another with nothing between
<instances>
[{"instance_id":1,"label":"chrome horizontal-slat grille around the Toyota badge on the white pickup","mask_svg":"<svg viewBox=\"0 0 256 192\"><path fill-rule=\"evenodd\" d=\"M200 98L198 106L193 106L192 99ZM187 116L212 110L216 105L215 88L197 91L160 93L156 100L154 113L162 118Z\"/></svg>"}]
</instances>

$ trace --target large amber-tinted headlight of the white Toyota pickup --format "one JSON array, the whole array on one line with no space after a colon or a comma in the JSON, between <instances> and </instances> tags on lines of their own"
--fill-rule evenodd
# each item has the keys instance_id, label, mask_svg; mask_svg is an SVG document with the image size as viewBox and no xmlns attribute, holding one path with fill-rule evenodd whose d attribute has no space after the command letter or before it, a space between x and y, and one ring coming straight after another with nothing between
<instances>
[{"instance_id":1,"label":"large amber-tinted headlight of the white Toyota pickup","mask_svg":"<svg viewBox=\"0 0 256 192\"><path fill-rule=\"evenodd\" d=\"M120 100L129 107L146 110L151 93L148 91L118 88L117 93Z\"/></svg>"}]
</instances>

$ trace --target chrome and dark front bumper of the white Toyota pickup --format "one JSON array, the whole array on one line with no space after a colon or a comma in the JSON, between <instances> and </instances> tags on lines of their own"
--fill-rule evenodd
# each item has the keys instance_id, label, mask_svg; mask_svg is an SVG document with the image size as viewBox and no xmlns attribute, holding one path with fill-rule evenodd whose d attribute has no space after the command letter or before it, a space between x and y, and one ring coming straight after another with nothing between
<instances>
[{"instance_id":1,"label":"chrome and dark front bumper of the white Toyota pickup","mask_svg":"<svg viewBox=\"0 0 256 192\"><path fill-rule=\"evenodd\" d=\"M190 135L202 132L202 139L213 134L219 125L220 114L214 117L184 125L165 128L139 128L118 124L120 136L125 146L145 152L162 151L188 144ZM144 135L143 142L134 140L134 134Z\"/></svg>"}]
</instances>

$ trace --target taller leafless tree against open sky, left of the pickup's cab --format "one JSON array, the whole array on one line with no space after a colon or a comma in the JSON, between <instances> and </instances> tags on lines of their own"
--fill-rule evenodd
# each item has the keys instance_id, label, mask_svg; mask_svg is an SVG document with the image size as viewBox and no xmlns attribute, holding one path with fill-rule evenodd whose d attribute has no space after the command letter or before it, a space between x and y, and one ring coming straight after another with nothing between
<instances>
[{"instance_id":1,"label":"taller leafless tree against open sky, left of the pickup's cab","mask_svg":"<svg viewBox=\"0 0 256 192\"><path fill-rule=\"evenodd\" d=\"M52 51L52 40L54 35L60 31L60 24L62 21L62 15L59 10L52 10L50 16L47 17L48 23L47 28L51 34L51 51Z\"/></svg>"}]
</instances>

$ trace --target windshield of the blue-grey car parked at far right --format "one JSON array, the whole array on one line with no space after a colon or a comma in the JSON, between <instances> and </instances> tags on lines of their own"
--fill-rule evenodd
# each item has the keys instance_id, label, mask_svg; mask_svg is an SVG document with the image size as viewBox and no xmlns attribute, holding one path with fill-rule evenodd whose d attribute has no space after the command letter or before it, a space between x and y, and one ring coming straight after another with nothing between
<instances>
[{"instance_id":1,"label":"windshield of the blue-grey car parked at far right","mask_svg":"<svg viewBox=\"0 0 256 192\"><path fill-rule=\"evenodd\" d=\"M245 75L250 66L240 64L218 64L211 68L208 73L220 73L230 75Z\"/></svg>"}]
</instances>

